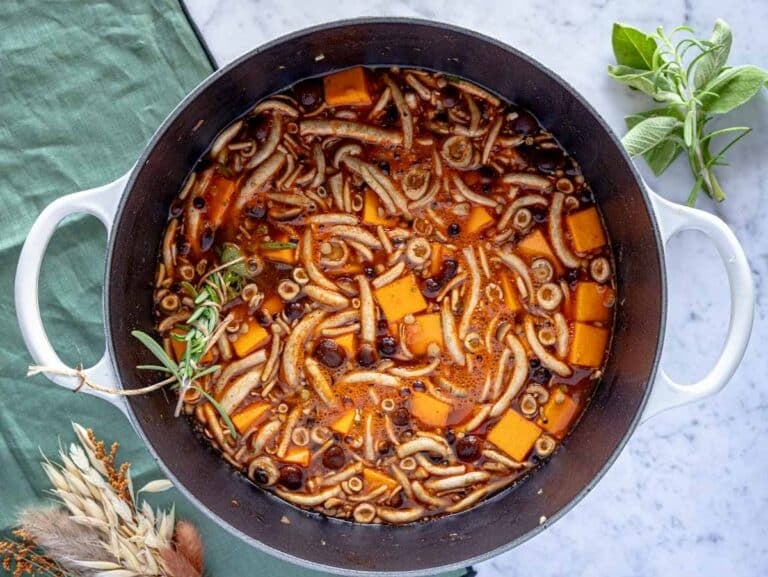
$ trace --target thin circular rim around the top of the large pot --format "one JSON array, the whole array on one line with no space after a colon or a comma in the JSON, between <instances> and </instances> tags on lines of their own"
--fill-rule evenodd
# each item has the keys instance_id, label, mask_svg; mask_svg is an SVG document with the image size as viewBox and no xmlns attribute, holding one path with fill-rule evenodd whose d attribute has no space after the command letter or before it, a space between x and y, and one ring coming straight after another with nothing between
<instances>
[{"instance_id":1,"label":"thin circular rim around the top of the large pot","mask_svg":"<svg viewBox=\"0 0 768 577\"><path fill-rule=\"evenodd\" d=\"M154 132L154 134L152 135L152 137L149 139L146 146L144 147L141 156L139 157L136 164L131 169L130 177L128 179L128 182L126 183L125 189L123 190L123 193L120 198L120 202L118 203L117 208L115 210L114 229L112 234L110 235L109 244L107 247L107 258L106 258L106 264L105 264L105 280L109 279L110 271L112 269L112 261L115 258L115 241L116 241L117 235L114 233L114 230L116 230L120 225L120 222L123 216L123 211L127 202L127 198L130 194L130 191L133 189L135 181L140 172L140 167L142 167L148 161L148 159L152 156L152 153L154 151L154 148L157 142L163 137L165 132L169 129L170 126L173 125L177 117L191 102L193 102L209 86L215 84L219 80L219 78L221 78L223 75L228 73L230 70L238 67L245 61L257 56L259 53L261 53L264 50L267 50L279 44L292 42L296 38L310 35L319 31L328 31L328 30L333 30L334 28L350 26L350 25L360 26L360 25L372 25L372 24L405 25L405 26L415 25L415 26L431 27L431 28L437 28L437 29L445 30L449 32L459 33L466 36L474 37L475 39L483 41L485 43L492 44L495 47L500 48L505 52L508 52L514 55L515 57L526 61L529 65L538 68L541 72L548 75L555 82L557 82L563 89L568 91L571 94L571 96L575 98L595 118L595 120L597 120L599 126L602 128L602 130L604 130L607 133L608 137L613 142L614 146L616 146L619 149L619 153L621 154L622 158L626 162L629 170L631 171L632 176L635 178L635 180L638 183L641 196L642 196L642 201L645 204L645 208L649 214L651 226L653 228L653 237L654 237L655 246L656 246L656 256L659 260L659 270L660 270L659 303L661 305L660 320L659 320L659 327L658 327L659 339L658 339L658 342L656 343L656 349L654 351L654 359L651 364L651 370L649 373L648 382L646 383L645 391L643 393L641 402L638 405L638 408L634 417L629 423L626 433L624 434L620 442L617 444L616 448L611 453L610 457L605 461L604 465L600 468L600 470L592 477L592 479L590 479L588 483L586 483L582 487L582 489L565 506L563 506L555 514L548 517L545 523L539 524L538 526L534 527L533 529L519 536L518 538L512 541L509 541L508 543L505 543L504 545L499 546L491 551L487 551L481 555L476 555L476 556L467 558L461 562L454 562L446 565L437 565L429 569L418 569L418 570L408 570L408 571L376 571L376 570L346 569L344 567L325 565L322 563L309 561L297 555L286 553L285 551L281 551L279 549L271 547L245 534L239 529L233 527L232 525L224 521L224 519L219 517L215 512L209 509L200 499L198 499L191 491L189 491L187 487L179 481L179 479L176 477L173 471L171 471L170 468L165 464L165 462L159 457L154 446L151 444L143 428L141 427L141 424L139 423L139 420L137 419L136 414L134 413L133 407L131 406L130 403L126 403L126 407L127 407L126 414L128 416L128 419L131 422L131 426L136 431L136 433L141 437L141 440L144 446L148 449L154 461L158 464L158 466L166 474L166 476L173 482L174 486L182 493L182 495L184 495L184 497L186 497L200 512L205 514L209 519L215 522L218 526L222 527L231 535L239 538L240 540L244 541L248 545L264 553L277 557L282 561L293 563L301 567L305 567L305 568L316 570L316 571L325 571L328 573L333 573L338 575L353 575L356 577L369 576L369 575L370 576L374 576L374 575L375 576L392 576L392 577L395 577L395 576L417 577L425 574L434 575L437 573L444 573L448 571L464 569L467 566L471 566L476 563L486 561L492 557L500 555L501 553L504 553L506 551L509 551L521 545L525 541L538 535L544 529L550 527L552 524L560 520L566 513L571 511L571 509L573 509L595 487L595 485L597 485L597 483L603 478L605 473L608 471L608 469L611 468L611 466L616 461L618 456L624 450L624 447L629 441L629 438L632 436L635 429L637 428L637 425L640 422L641 416L648 402L648 398L650 396L651 390L653 389L653 383L656 379L656 374L658 372L659 363L661 360L661 351L664 344L664 335L666 331L667 276L666 276L666 265L665 265L664 242L661 238L659 224L657 221L656 210L649 197L648 187L645 184L645 181L637 172L635 165L630 160L629 156L627 155L626 151L621 145L618 137L615 135L615 133L610 128L608 123L593 108L593 106L581 95L581 93L579 93L573 86L571 86L560 75L552 71L550 68L548 68L538 60L520 51L519 49L514 48L504 42L501 42L485 34L481 34L467 28L463 28L460 26L456 26L453 24L448 24L440 21L425 20L421 18L405 18L405 17L349 18L349 19L333 20L330 22L317 24L314 26L302 28L300 30L282 35L269 42L261 44L252 50L249 50L248 52L228 62L226 65L222 66L221 68L214 70L208 77L203 79L192 91L190 91L181 100L181 102L179 102L179 104L168 114L165 120L160 124L160 126ZM109 283L105 282L104 283L104 299L103 299L103 315L104 315L103 318L105 319L105 323L104 323L105 336L107 340L108 351L110 353L111 361L113 363L112 369L114 370L114 373L116 376L116 382L119 384L121 388L123 388L122 383L120 382L120 377L119 377L120 373L117 370L117 367L114 366L114 362L115 362L114 359L116 359L117 356L115 354L116 351L115 351L114 339L112 338L112 326L111 326L111 319L109 315L110 304L111 304L111 299L110 299ZM589 410L589 407L587 407L586 410ZM286 506L291 506L291 505L286 503Z\"/></svg>"}]
</instances>

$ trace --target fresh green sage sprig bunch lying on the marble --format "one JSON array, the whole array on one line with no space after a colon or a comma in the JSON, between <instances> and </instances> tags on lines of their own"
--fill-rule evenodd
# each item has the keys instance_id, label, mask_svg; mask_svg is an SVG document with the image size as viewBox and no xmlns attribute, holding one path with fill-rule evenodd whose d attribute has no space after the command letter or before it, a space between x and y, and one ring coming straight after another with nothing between
<instances>
[{"instance_id":1,"label":"fresh green sage sprig bunch lying on the marble","mask_svg":"<svg viewBox=\"0 0 768 577\"><path fill-rule=\"evenodd\" d=\"M768 86L768 72L757 66L727 66L732 35L723 20L715 22L709 40L694 34L688 26L678 26L668 36L661 27L646 34L616 23L612 41L617 64L608 67L612 78L662 104L627 116L629 131L622 143L657 176L685 151L695 179L688 195L691 206L700 190L718 202L725 199L714 169L726 164L728 149L751 131L747 126L708 130L710 121ZM730 139L714 152L712 141L723 135Z\"/></svg>"}]
</instances>

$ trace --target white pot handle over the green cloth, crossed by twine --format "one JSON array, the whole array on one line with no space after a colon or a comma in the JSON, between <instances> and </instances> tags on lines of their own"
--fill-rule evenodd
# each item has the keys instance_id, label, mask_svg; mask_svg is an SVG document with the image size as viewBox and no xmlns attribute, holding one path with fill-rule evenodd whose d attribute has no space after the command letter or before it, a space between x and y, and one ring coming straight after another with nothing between
<instances>
[{"instance_id":1,"label":"white pot handle over the green cloth, crossed by twine","mask_svg":"<svg viewBox=\"0 0 768 577\"><path fill-rule=\"evenodd\" d=\"M66 369L56 351L53 349L48 335L43 326L38 302L38 281L40 279L40 266L43 256L48 248L48 243L62 220L78 213L87 213L98 218L107 229L107 236L112 230L117 203L128 182L130 172L124 174L114 182L63 196L49 204L40 216L37 217L27 235L24 246L19 256L19 264L16 268L15 299L16 316L27 345L35 363L43 367ZM112 370L112 359L109 348L104 355L92 367L83 371L88 379L104 387L115 388L117 379ZM62 387L76 390L80 385L80 379L74 376L62 376L46 373L46 376ZM126 413L127 406L123 397L110 395L83 388L83 391L109 401L115 407Z\"/></svg>"}]
</instances>

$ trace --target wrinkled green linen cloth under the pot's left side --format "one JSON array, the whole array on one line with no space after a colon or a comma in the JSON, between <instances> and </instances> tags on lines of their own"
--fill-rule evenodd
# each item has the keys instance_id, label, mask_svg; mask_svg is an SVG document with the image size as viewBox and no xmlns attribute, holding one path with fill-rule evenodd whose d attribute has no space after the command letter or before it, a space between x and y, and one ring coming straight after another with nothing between
<instances>
[{"instance_id":1,"label":"wrinkled green linen cloth under the pot's left side","mask_svg":"<svg viewBox=\"0 0 768 577\"><path fill-rule=\"evenodd\" d=\"M71 421L121 444L136 486L162 476L119 411L44 377L16 323L13 278L33 220L55 198L109 182L135 162L166 114L211 72L176 0L0 2L0 533L17 512L45 503L42 449L55 456ZM104 348L101 289L105 232L76 217L54 236L43 264L41 309L70 366ZM31 287L30 287L31 290ZM209 521L177 491L175 501L205 542L209 575L316 576L258 552ZM254 567L258 567L254 570ZM0 570L1 571L1 570Z\"/></svg>"}]
</instances>

